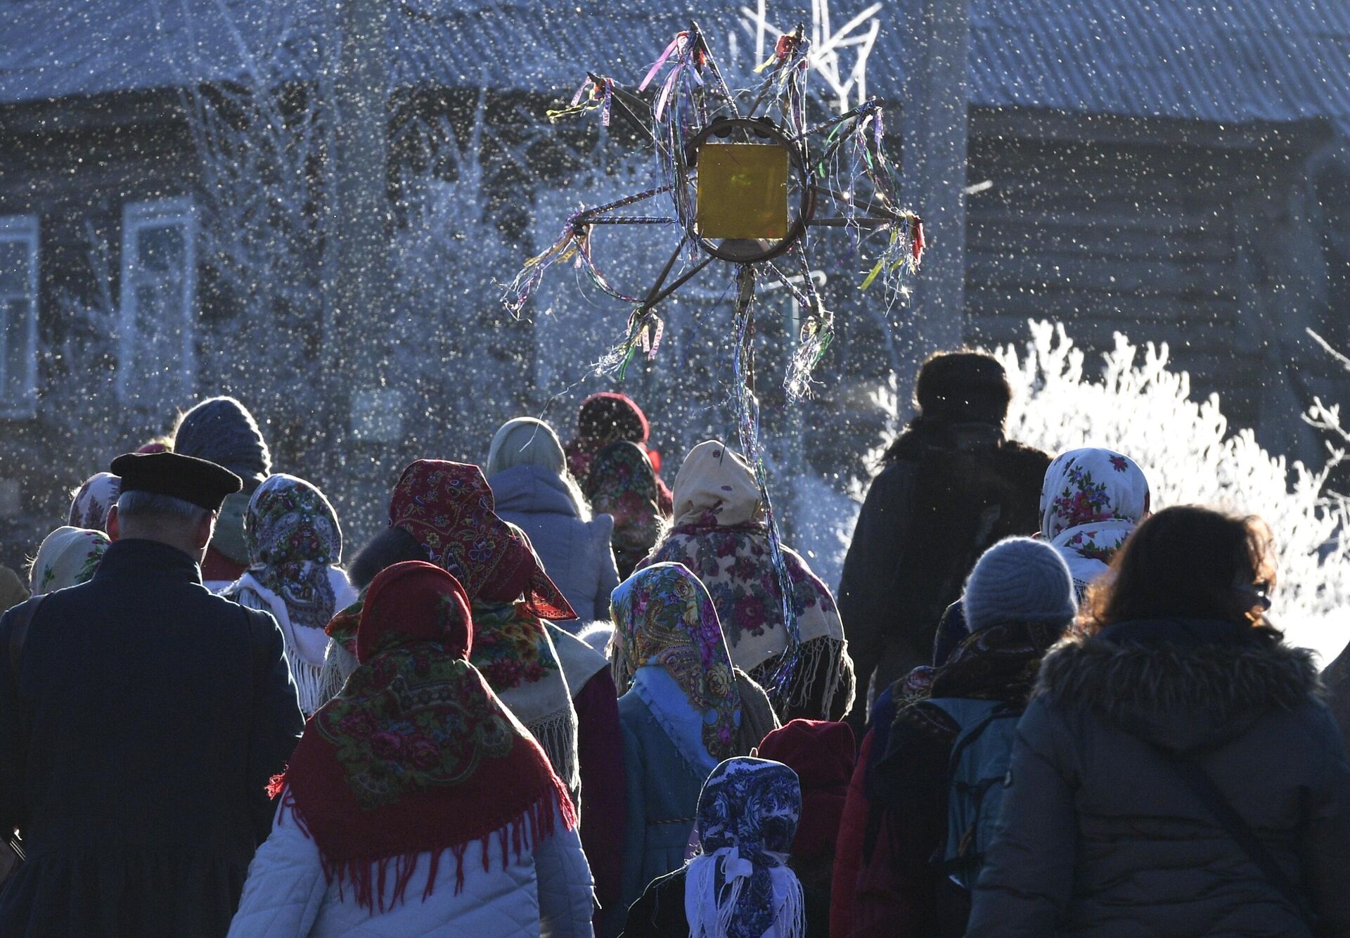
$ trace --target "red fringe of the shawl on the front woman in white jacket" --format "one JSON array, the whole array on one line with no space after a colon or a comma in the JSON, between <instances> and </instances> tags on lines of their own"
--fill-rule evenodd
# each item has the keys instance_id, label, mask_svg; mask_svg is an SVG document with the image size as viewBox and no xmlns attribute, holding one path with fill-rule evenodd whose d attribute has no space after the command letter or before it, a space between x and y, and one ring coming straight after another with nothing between
<instances>
[{"instance_id":1,"label":"red fringe of the shawl on the front woman in white jacket","mask_svg":"<svg viewBox=\"0 0 1350 938\"><path fill-rule=\"evenodd\" d=\"M483 872L491 871L491 842L494 838L498 845L497 856L501 857L501 868L506 869L512 865L513 860L514 862L520 862L526 852L533 852L543 841L552 837L558 831L556 817L562 818L564 829L574 830L576 827L576 811L572 808L566 787L558 783L551 790L545 790L524 814L502 827L490 830L482 837L475 838L482 850ZM313 839L289 788L285 790L282 807L277 814L278 826L284 823L288 812L296 822L296 826L300 827L300 833L308 839ZM436 891L436 877L440 875L440 858L446 853L450 853L455 858L455 895L460 895L464 891L464 856L474 842L474 839L470 839L464 844L451 844L433 850L340 861L331 861L320 850L319 858L324 869L324 879L329 884L338 883L339 900L346 902L346 893L350 889L352 900L374 914L401 906L405 902L408 887L417 875L423 853L429 854L429 862L427 864L427 885L423 888L421 900L427 902ZM393 873L392 889L390 872ZM389 892L387 902L385 900L386 892Z\"/></svg>"}]
</instances>

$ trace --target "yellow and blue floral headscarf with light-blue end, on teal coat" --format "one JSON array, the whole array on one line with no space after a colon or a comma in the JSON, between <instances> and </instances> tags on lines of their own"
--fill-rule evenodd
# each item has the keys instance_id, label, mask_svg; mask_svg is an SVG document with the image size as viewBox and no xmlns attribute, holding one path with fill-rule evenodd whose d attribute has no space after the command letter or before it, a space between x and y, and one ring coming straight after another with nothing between
<instances>
[{"instance_id":1,"label":"yellow and blue floral headscarf with light-blue end, on teal coat","mask_svg":"<svg viewBox=\"0 0 1350 938\"><path fill-rule=\"evenodd\" d=\"M698 578L679 564L655 564L618 584L612 611L616 687L622 692L632 683L691 764L711 768L734 754L741 698L717 610ZM640 682L644 669L668 682ZM690 733L695 722L698 737Z\"/></svg>"}]
</instances>

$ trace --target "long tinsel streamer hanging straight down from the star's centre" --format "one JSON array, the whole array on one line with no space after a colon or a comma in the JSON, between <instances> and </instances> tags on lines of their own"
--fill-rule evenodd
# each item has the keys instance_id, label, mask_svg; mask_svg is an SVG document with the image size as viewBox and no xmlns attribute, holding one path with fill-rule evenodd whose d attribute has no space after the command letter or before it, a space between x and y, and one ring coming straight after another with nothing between
<instances>
[{"instance_id":1,"label":"long tinsel streamer hanging straight down from the star's centre","mask_svg":"<svg viewBox=\"0 0 1350 938\"><path fill-rule=\"evenodd\" d=\"M796 659L801 653L802 633L796 625L796 603L792 592L792 578L787 572L787 563L783 560L783 541L778 532L778 520L774 514L774 503L768 494L768 470L764 466L764 451L760 447L759 436L759 401L752 389L753 381L753 339L755 339L755 269L741 265L736 270L736 313L734 313L734 346L732 350L732 370L736 377L736 428L741 440L741 451L745 460L755 471L755 482L759 485L760 498L764 501L764 520L768 525L768 552L774 564L774 574L778 579L778 591L783 602L783 629L787 633L787 648L770 686L764 690L782 707L787 700L787 694L792 683L792 673L796 671Z\"/></svg>"}]
</instances>

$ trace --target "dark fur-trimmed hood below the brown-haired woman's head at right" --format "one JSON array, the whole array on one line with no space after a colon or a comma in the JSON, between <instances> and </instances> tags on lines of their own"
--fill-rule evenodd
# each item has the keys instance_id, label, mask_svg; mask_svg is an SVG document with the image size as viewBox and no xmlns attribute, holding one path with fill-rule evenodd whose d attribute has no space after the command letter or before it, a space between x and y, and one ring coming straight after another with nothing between
<instances>
[{"instance_id":1,"label":"dark fur-trimmed hood below the brown-haired woman's head at right","mask_svg":"<svg viewBox=\"0 0 1350 938\"><path fill-rule=\"evenodd\" d=\"M1308 649L1246 626L1187 619L1071 636L1045 656L1037 694L1188 750L1233 740L1273 710L1320 699L1323 690Z\"/></svg>"}]
</instances>

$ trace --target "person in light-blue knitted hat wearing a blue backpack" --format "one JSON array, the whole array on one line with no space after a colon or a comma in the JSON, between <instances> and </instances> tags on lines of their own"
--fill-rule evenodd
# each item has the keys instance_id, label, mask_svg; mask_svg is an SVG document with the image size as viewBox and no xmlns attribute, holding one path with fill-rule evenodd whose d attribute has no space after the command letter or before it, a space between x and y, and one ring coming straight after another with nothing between
<instances>
[{"instance_id":1,"label":"person in light-blue knitted hat wearing a blue backpack","mask_svg":"<svg viewBox=\"0 0 1350 938\"><path fill-rule=\"evenodd\" d=\"M960 938L990 846L1018 718L1041 659L1077 611L1058 552L995 544L965 583L971 636L903 692L869 777L872 811L853 895L859 938Z\"/></svg>"}]
</instances>

